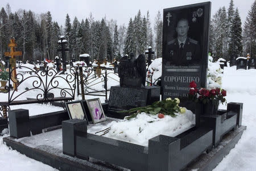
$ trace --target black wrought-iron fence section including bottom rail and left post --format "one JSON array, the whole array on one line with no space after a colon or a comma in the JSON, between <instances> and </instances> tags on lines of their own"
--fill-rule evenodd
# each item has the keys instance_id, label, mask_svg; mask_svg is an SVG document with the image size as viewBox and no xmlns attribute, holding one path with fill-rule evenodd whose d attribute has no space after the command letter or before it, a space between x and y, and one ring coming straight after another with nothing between
<instances>
[{"instance_id":1,"label":"black wrought-iron fence section including bottom rail and left post","mask_svg":"<svg viewBox=\"0 0 256 171\"><path fill-rule=\"evenodd\" d=\"M17 72L16 69L26 69L30 74ZM10 69L7 101L0 102L0 114L7 117L10 105L32 104L51 101L69 101L75 99L77 68L70 67L65 74L48 67L44 71L36 71L26 66ZM11 90L11 84L14 84ZM2 111L2 113L1 113Z\"/></svg>"}]
</instances>

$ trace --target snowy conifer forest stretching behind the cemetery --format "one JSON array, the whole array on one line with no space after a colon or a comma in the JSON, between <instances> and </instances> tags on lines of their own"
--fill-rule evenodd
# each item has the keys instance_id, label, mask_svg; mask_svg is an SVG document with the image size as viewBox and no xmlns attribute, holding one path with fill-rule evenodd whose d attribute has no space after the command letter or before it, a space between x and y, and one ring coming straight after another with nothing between
<instances>
[{"instance_id":1,"label":"snowy conifer forest stretching behind the cemetery","mask_svg":"<svg viewBox=\"0 0 256 171\"><path fill-rule=\"evenodd\" d=\"M244 56L250 53L255 57L255 22L256 2L251 5L246 21L242 23L238 8L230 1L228 10L220 7L210 21L209 52L214 61L224 58L229 61L236 55ZM127 21L128 22L128 21ZM59 55L58 40L65 36L69 52L67 60L79 59L79 54L88 53L90 58L109 61L121 58L134 52L142 54L148 46L155 51L155 58L162 57L162 13L158 11L152 29L150 14L142 16L139 10L134 18L130 18L127 27L117 25L113 19L94 20L90 14L80 22L75 17L73 21L66 15L65 25L59 25L52 20L51 12L35 14L32 11L11 11L9 4L0 11L0 58L9 51L8 44L14 38L18 44L16 50L22 51L19 58L26 60L54 59Z\"/></svg>"}]
</instances>

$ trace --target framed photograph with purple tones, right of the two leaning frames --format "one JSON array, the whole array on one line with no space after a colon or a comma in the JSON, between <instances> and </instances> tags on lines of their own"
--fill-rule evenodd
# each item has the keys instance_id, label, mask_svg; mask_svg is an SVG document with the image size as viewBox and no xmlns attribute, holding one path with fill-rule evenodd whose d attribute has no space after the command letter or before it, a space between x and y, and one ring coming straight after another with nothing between
<instances>
[{"instance_id":1,"label":"framed photograph with purple tones, right of the two leaning frames","mask_svg":"<svg viewBox=\"0 0 256 171\"><path fill-rule=\"evenodd\" d=\"M98 122L106 121L106 116L101 106L101 101L99 98L86 100L90 116L92 117L93 124Z\"/></svg>"}]
</instances>

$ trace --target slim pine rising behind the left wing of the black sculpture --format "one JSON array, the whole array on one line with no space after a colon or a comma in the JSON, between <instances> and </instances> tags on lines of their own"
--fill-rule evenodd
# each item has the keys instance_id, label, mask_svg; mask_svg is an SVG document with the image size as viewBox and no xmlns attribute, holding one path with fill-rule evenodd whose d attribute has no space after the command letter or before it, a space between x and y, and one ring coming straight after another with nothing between
<instances>
[{"instance_id":1,"label":"slim pine rising behind the left wing of the black sculpture","mask_svg":"<svg viewBox=\"0 0 256 171\"><path fill-rule=\"evenodd\" d=\"M130 18L130 22L127 28L126 37L125 37L125 48L123 49L124 54L134 53L134 28L133 28L133 20Z\"/></svg>"}]
</instances>

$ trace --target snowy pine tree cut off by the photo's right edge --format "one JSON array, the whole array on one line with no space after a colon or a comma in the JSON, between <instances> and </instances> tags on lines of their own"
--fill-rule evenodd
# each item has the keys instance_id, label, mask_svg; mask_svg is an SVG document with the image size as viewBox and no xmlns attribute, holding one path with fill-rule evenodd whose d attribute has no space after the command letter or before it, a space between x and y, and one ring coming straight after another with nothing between
<instances>
[{"instance_id":1,"label":"snowy pine tree cut off by the photo's right edge","mask_svg":"<svg viewBox=\"0 0 256 171\"><path fill-rule=\"evenodd\" d=\"M250 57L256 58L256 1L251 5L251 9L246 16L243 25L243 52L244 55L250 54Z\"/></svg>"}]
</instances>

